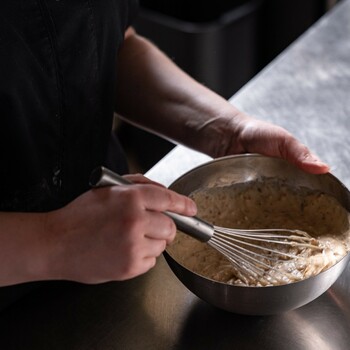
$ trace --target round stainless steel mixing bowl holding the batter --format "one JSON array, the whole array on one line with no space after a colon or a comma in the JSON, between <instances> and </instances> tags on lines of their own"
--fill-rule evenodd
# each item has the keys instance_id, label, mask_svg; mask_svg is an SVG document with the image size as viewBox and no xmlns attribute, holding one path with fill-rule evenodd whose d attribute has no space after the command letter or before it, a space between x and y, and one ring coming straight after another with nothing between
<instances>
[{"instance_id":1,"label":"round stainless steel mixing bowl holding the batter","mask_svg":"<svg viewBox=\"0 0 350 350\"><path fill-rule=\"evenodd\" d=\"M256 154L219 158L196 167L170 185L178 193L189 195L196 189L242 183L273 177L298 187L320 190L335 197L350 211L350 193L333 175L312 175L282 159ZM178 279L202 300L221 309L247 315L272 315L303 306L319 297L346 268L350 254L328 270L300 282L271 287L243 287L213 281L198 275L164 252Z\"/></svg>"}]
</instances>

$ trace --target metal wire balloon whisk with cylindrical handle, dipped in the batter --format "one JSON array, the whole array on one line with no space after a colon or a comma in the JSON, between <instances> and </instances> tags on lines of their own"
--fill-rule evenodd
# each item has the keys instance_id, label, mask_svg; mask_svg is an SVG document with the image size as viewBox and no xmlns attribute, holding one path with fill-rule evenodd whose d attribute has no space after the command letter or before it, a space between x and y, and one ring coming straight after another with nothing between
<instances>
[{"instance_id":1,"label":"metal wire balloon whisk with cylindrical handle, dipped in the batter","mask_svg":"<svg viewBox=\"0 0 350 350\"><path fill-rule=\"evenodd\" d=\"M132 184L105 167L95 169L90 178L92 187ZM322 249L315 238L297 229L232 229L214 226L197 216L168 211L164 214L174 220L178 230L223 254L246 281L264 278L266 271L274 270L278 262L299 259L306 249ZM283 272L277 273L283 279Z\"/></svg>"}]
</instances>

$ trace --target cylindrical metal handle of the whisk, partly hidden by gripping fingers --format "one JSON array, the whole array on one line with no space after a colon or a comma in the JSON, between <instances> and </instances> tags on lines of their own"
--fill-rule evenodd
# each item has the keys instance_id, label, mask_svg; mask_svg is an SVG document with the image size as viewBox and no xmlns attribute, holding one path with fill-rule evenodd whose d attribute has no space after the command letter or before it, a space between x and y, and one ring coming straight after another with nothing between
<instances>
[{"instance_id":1,"label":"cylindrical metal handle of the whisk, partly hidden by gripping fingers","mask_svg":"<svg viewBox=\"0 0 350 350\"><path fill-rule=\"evenodd\" d=\"M96 168L90 177L90 185L92 187L132 184L131 181L105 167ZM184 216L169 211L165 211L164 214L174 220L178 230L201 242L209 241L214 234L214 227L196 216Z\"/></svg>"}]
</instances>

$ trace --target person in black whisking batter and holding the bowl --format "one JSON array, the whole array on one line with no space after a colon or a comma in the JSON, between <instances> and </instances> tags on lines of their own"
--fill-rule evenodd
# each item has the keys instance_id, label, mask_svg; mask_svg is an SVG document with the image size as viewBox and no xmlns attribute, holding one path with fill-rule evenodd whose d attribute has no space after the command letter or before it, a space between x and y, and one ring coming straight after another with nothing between
<instances>
[{"instance_id":1,"label":"person in black whisking batter and holding the bowl","mask_svg":"<svg viewBox=\"0 0 350 350\"><path fill-rule=\"evenodd\" d=\"M189 198L125 175L111 141L115 112L212 157L257 152L329 170L287 130L238 110L136 33L137 6L0 4L0 286L133 278L175 237L162 212L196 214ZM91 189L99 165L137 184Z\"/></svg>"}]
</instances>

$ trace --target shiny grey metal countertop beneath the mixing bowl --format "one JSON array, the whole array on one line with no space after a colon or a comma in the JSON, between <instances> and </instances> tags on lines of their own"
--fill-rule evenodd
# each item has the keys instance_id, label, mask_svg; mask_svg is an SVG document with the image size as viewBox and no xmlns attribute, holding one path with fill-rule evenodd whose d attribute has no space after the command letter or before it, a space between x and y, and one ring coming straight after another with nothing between
<instances>
[{"instance_id":1,"label":"shiny grey metal countertop beneath the mixing bowl","mask_svg":"<svg viewBox=\"0 0 350 350\"><path fill-rule=\"evenodd\" d=\"M350 187L350 1L340 2L230 102L279 124ZM177 146L146 175L166 185L210 158ZM350 349L350 267L322 296L276 316L198 299L163 257L125 282L47 283L0 313L1 349Z\"/></svg>"}]
</instances>

